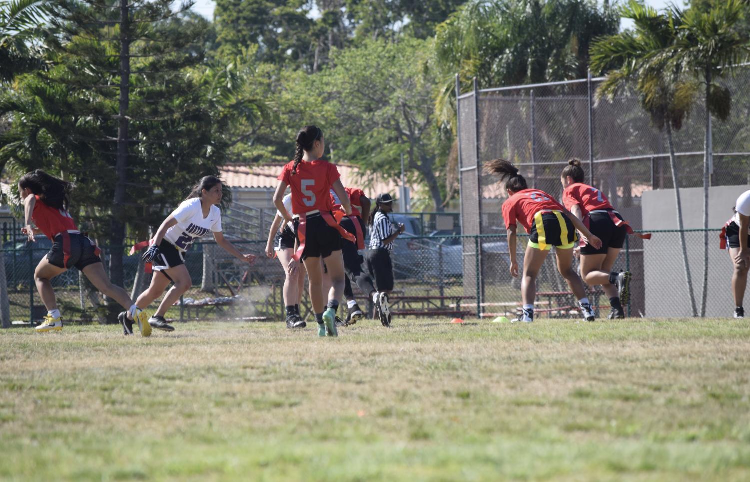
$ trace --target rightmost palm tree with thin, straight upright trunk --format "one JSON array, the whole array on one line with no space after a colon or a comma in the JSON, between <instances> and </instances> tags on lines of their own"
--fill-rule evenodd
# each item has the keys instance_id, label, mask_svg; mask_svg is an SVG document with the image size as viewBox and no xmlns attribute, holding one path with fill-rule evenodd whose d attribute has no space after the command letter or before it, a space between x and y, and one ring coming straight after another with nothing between
<instances>
[{"instance_id":1,"label":"rightmost palm tree with thin, straight upright trunk","mask_svg":"<svg viewBox=\"0 0 750 482\"><path fill-rule=\"evenodd\" d=\"M726 120L732 100L729 89L718 85L715 80L732 73L734 67L750 57L750 34L743 19L746 10L747 4L742 0L716 1L708 8L696 5L685 10L672 49L671 62L679 69L691 72L703 87L703 292L700 316L706 316L708 294L708 194L713 165L711 116Z\"/></svg>"}]
</instances>

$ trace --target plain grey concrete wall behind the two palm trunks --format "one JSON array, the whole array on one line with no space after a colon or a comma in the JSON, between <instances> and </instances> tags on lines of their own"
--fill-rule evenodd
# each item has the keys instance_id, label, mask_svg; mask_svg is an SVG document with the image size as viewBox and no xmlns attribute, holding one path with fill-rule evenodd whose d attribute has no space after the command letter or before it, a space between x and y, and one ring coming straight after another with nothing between
<instances>
[{"instance_id":1,"label":"plain grey concrete wall behind the two palm trunks","mask_svg":"<svg viewBox=\"0 0 750 482\"><path fill-rule=\"evenodd\" d=\"M748 185L711 187L709 190L709 228L721 228L731 217L737 196L750 189ZM679 190L682 221L685 229L703 227L703 188ZM643 229L676 229L674 190L652 190L643 193ZM698 313L703 289L703 232L685 233L688 262ZM730 279L732 262L727 250L718 249L718 234L709 232L709 276L706 316L732 316L733 301ZM690 297L682 262L678 233L655 233L643 241L643 284L645 316L691 316Z\"/></svg>"}]
</instances>

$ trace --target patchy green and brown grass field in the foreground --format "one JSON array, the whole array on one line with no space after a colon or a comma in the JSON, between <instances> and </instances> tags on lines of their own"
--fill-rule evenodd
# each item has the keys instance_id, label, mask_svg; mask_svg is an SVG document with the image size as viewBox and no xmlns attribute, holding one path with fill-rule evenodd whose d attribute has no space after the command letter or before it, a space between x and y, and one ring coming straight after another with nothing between
<instances>
[{"instance_id":1,"label":"patchy green and brown grass field in the foreground","mask_svg":"<svg viewBox=\"0 0 750 482\"><path fill-rule=\"evenodd\" d=\"M0 478L750 478L750 325L0 331Z\"/></svg>"}]
</instances>

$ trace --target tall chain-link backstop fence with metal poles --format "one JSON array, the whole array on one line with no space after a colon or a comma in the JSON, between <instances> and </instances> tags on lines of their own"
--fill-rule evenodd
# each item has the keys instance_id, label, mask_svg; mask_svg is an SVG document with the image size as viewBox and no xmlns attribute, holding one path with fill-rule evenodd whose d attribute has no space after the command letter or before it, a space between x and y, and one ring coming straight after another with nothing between
<instances>
[{"instance_id":1,"label":"tall chain-link backstop fence with metal poles","mask_svg":"<svg viewBox=\"0 0 750 482\"><path fill-rule=\"evenodd\" d=\"M462 93L457 76L463 235L498 235L505 231L500 215L504 189L496 178L482 171L482 164L496 157L514 163L529 187L544 190L558 199L562 193L559 181L562 168L569 158L577 157L582 161L587 181L605 193L634 228L643 227L643 191L674 187L667 137L654 127L632 91L613 99L597 99L596 89L603 80L589 76L502 88L478 88L475 81L471 91ZM750 184L747 88L750 67L735 70L719 82L731 93L732 109L727 121L712 121L710 184L712 187L747 185ZM698 100L682 127L673 133L680 189L703 186L704 115L703 104ZM730 212L730 207L724 208ZM696 227L685 218L700 217L702 211L683 213L685 227ZM721 214L712 219L709 227L721 227L727 217L728 214ZM694 243L702 247L703 239L695 238ZM481 303L490 302L494 268L478 254L481 254L478 245L472 238L465 238L463 289L467 294L478 293ZM695 259L694 271L702 274L703 263L703 256Z\"/></svg>"}]
</instances>

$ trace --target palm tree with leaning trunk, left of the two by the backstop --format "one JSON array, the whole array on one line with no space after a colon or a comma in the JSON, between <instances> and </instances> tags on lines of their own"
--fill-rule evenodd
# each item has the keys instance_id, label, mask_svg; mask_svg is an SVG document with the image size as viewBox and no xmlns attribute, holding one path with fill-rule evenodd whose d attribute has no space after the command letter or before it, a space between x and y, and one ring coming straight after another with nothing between
<instances>
[{"instance_id":1,"label":"palm tree with leaning trunk, left of the two by the backstop","mask_svg":"<svg viewBox=\"0 0 750 482\"><path fill-rule=\"evenodd\" d=\"M639 1L631 0L620 8L620 14L633 20L634 30L603 37L591 46L592 70L607 72L607 79L597 89L597 97L613 97L620 91L634 88L640 105L649 113L655 127L666 134L685 281L692 315L697 316L672 136L673 130L682 127L697 94L694 82L685 82L682 65L672 61L682 13L673 7L658 13Z\"/></svg>"}]
</instances>

